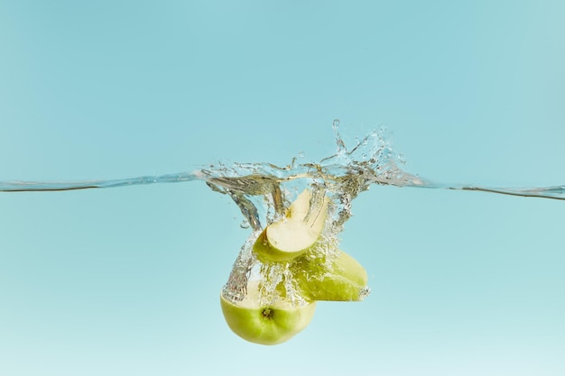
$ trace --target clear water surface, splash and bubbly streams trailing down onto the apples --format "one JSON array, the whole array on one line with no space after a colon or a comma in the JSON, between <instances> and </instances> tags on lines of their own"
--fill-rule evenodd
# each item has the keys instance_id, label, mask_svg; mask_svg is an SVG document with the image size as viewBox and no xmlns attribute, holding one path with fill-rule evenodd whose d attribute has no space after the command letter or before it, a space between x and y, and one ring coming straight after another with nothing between
<instances>
[{"instance_id":1,"label":"clear water surface, splash and bubbly streams trailing down onto the apples","mask_svg":"<svg viewBox=\"0 0 565 376\"><path fill-rule=\"evenodd\" d=\"M314 193L312 205L320 204L322 197L330 198L330 216L324 232L324 256L337 249L338 237L343 225L351 217L355 198L371 185L410 188L456 189L483 191L523 197L565 199L565 186L547 188L489 188L431 182L402 170L403 155L394 151L384 131L375 131L357 140L351 147L339 133L339 121L332 124L335 133L336 152L318 162L298 163L297 158L287 166L267 162L210 165L192 172L161 176L143 176L132 179L95 180L77 182L0 182L4 192L62 191L90 188L120 188L157 183L181 183L201 181L209 188L233 199L239 207L244 228L251 234L241 247L233 270L223 289L223 295L232 301L245 298L249 280L261 280L264 302L276 295L274 290L281 280L290 280L288 265L263 264L257 261L252 247L265 225L280 219L286 207L306 187ZM267 283L268 282L268 283ZM292 285L286 284L292 302L304 304L298 294L292 294ZM360 291L360 298L369 289Z\"/></svg>"}]
</instances>

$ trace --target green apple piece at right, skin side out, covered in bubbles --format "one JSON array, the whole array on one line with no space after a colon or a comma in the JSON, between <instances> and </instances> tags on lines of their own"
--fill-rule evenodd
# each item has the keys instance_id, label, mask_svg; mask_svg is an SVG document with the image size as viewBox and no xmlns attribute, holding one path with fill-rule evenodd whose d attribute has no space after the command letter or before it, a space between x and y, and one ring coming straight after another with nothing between
<instances>
[{"instance_id":1,"label":"green apple piece at right, skin side out, covered in bubbles","mask_svg":"<svg viewBox=\"0 0 565 376\"><path fill-rule=\"evenodd\" d=\"M292 283L311 300L358 301L369 292L365 268L343 251L301 257L291 270Z\"/></svg>"}]
</instances>

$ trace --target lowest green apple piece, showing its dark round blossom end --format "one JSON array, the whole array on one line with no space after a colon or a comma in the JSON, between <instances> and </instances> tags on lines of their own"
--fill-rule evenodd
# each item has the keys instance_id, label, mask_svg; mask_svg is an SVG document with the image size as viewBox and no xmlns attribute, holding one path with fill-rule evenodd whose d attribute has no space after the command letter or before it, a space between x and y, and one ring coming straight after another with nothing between
<instances>
[{"instance_id":1,"label":"lowest green apple piece, showing its dark round blossom end","mask_svg":"<svg viewBox=\"0 0 565 376\"><path fill-rule=\"evenodd\" d=\"M304 306L248 307L220 295L227 326L241 338L255 344L282 344L310 324L316 302Z\"/></svg>"}]
</instances>

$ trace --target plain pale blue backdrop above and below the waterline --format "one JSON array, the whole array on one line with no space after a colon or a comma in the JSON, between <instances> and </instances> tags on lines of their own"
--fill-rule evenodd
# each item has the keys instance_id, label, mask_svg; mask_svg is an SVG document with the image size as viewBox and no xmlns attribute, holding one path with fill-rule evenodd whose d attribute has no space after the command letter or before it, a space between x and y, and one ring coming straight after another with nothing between
<instances>
[{"instance_id":1,"label":"plain pale blue backdrop above and below the waterline","mask_svg":"<svg viewBox=\"0 0 565 376\"><path fill-rule=\"evenodd\" d=\"M319 160L331 122L406 169L565 183L560 1L0 0L0 180ZM373 187L362 303L275 347L218 293L248 230L202 182L0 195L0 374L562 375L560 201Z\"/></svg>"}]
</instances>

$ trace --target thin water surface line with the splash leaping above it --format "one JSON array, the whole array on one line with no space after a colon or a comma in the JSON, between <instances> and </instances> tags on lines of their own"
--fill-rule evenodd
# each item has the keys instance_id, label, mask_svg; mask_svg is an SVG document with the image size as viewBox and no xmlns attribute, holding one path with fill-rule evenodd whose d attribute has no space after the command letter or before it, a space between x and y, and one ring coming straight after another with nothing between
<instances>
[{"instance_id":1,"label":"thin water surface line with the splash leaping above it","mask_svg":"<svg viewBox=\"0 0 565 376\"><path fill-rule=\"evenodd\" d=\"M136 185L149 185L161 183L184 183L189 181L204 180L208 186L218 189L234 197L243 192L262 194L266 189L273 191L273 204L275 212L282 209L281 195L276 192L276 187L282 181L294 179L321 179L329 184L341 187L350 185L355 192L351 199L358 193L366 190L371 184L389 185L394 187L455 189L467 191L490 192L511 196L542 197L565 200L565 185L539 188L497 188L482 187L479 185L447 184L421 179L401 168L404 165L403 154L395 153L384 136L383 132L372 132L350 150L347 149L339 133L339 120L332 123L335 133L337 151L335 154L320 160L320 162L296 163L294 158L291 164L283 167L270 163L234 163L232 166L218 164L207 166L191 172L179 172L160 176L142 176L130 179L111 180L82 180L82 181L0 181L0 192L44 192L65 191L92 188L120 188ZM303 152L300 153L303 158ZM353 188L356 186L357 188ZM242 210L251 209L249 206ZM241 206L240 206L241 207ZM249 224L253 227L252 221Z\"/></svg>"}]
</instances>

